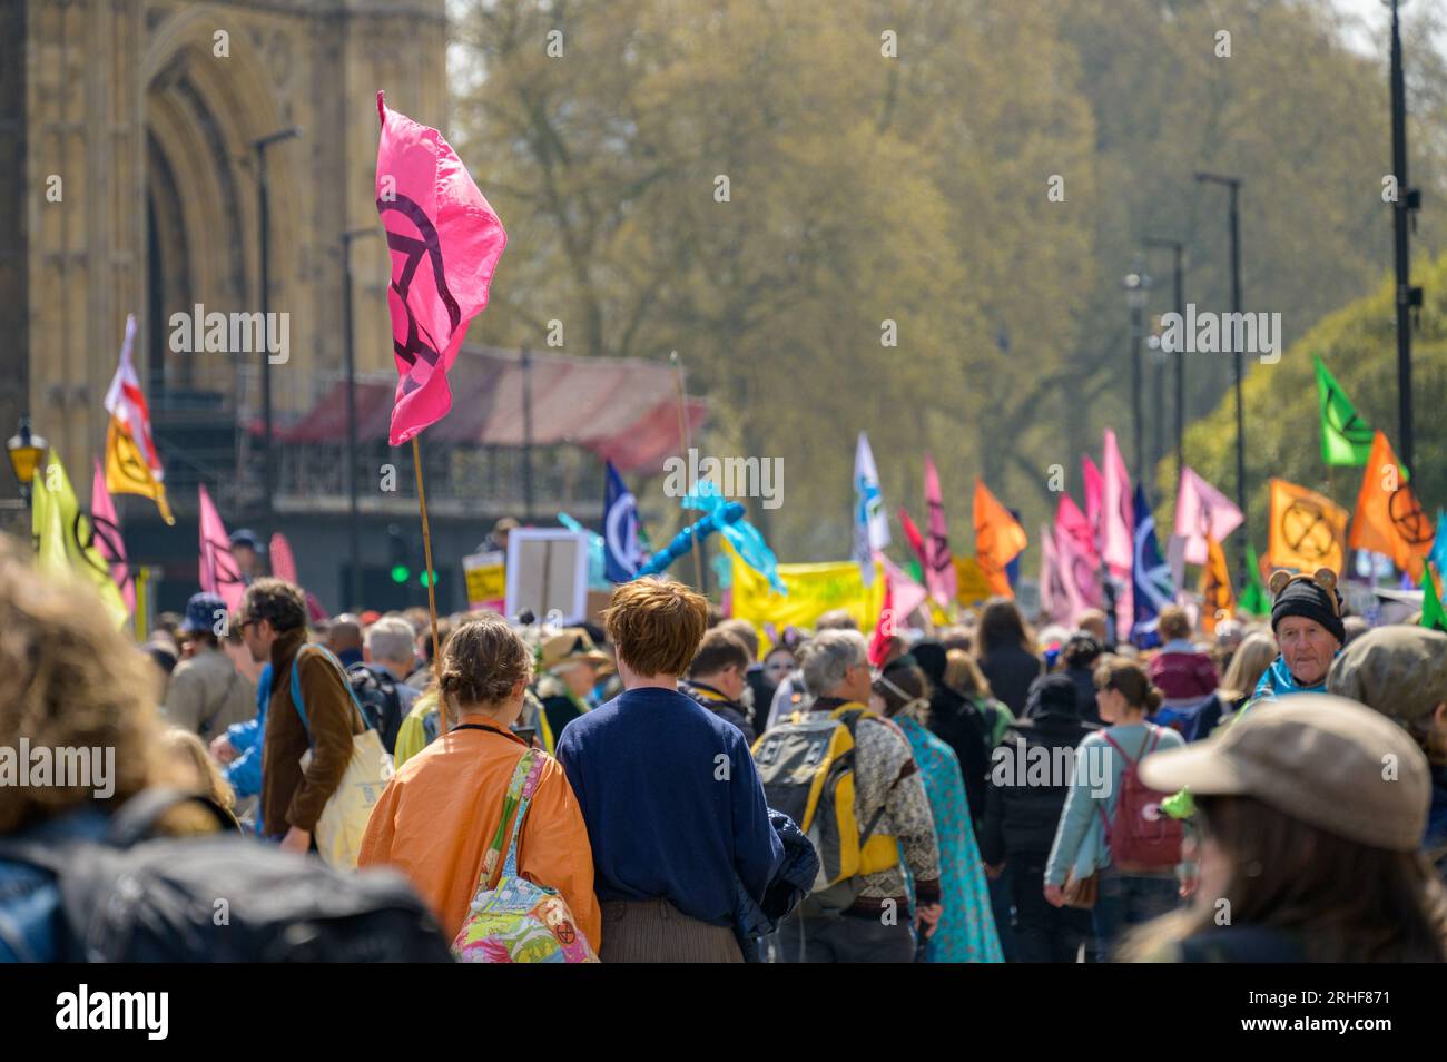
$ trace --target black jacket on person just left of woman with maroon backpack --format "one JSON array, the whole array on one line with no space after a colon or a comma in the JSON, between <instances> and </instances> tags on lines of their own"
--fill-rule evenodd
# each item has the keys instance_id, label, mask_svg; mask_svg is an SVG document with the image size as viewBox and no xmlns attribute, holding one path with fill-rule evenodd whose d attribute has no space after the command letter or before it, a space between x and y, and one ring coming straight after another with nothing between
<instances>
[{"instance_id":1,"label":"black jacket on person just left of woman with maroon backpack","mask_svg":"<svg viewBox=\"0 0 1447 1062\"><path fill-rule=\"evenodd\" d=\"M1071 778L1062 771L1051 770L1049 781L1061 784L1026 784L1027 777L1022 774L1030 765L1030 749L1043 749L1043 755L1051 757L1051 764L1065 762L1064 754L1056 749L1077 748L1095 729L1100 728L1094 723L1053 713L1017 719L1010 725L996 749L985 793L985 819L980 831L980 855L985 862L1001 864L1011 857L1024 855L1043 859L1049 855ZM1017 752L1022 742L1023 755ZM1033 755L1039 761L1042 752ZM1071 757L1068 762L1074 761Z\"/></svg>"}]
</instances>

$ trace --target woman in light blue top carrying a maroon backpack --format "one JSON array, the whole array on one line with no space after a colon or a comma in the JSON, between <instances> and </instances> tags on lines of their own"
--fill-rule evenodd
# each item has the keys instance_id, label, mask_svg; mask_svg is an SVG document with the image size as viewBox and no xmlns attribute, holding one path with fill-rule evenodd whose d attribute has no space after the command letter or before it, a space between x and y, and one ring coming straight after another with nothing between
<instances>
[{"instance_id":1,"label":"woman in light blue top carrying a maroon backpack","mask_svg":"<svg viewBox=\"0 0 1447 1062\"><path fill-rule=\"evenodd\" d=\"M1160 700L1160 690L1133 660L1101 657L1097 663L1095 703L1107 729L1091 734L1075 749L1071 790L1045 864L1045 899L1056 907L1065 903L1066 874L1085 880L1100 872L1094 922L1101 955L1110 955L1124 927L1165 914L1179 896L1174 864L1121 867L1111 855L1108 836L1127 767L1149 752L1185 744L1175 731L1146 722ZM1165 816L1159 804L1153 807L1156 816ZM1150 806L1143 810L1149 817Z\"/></svg>"}]
</instances>

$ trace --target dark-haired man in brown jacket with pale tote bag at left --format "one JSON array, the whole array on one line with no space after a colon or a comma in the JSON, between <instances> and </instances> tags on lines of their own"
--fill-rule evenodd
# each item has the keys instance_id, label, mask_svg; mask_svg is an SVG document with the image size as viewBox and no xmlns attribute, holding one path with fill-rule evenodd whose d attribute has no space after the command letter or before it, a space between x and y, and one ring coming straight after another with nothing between
<instances>
[{"instance_id":1,"label":"dark-haired man in brown jacket with pale tote bag at left","mask_svg":"<svg viewBox=\"0 0 1447 1062\"><path fill-rule=\"evenodd\" d=\"M252 583L242 603L242 638L253 660L272 666L262 739L262 833L279 838L284 849L307 852L321 809L352 760L352 735L362 721L341 670L315 647L302 651L307 599L298 587L281 579ZM307 726L291 697L292 666L300 668ZM311 762L302 771L308 748Z\"/></svg>"}]
</instances>

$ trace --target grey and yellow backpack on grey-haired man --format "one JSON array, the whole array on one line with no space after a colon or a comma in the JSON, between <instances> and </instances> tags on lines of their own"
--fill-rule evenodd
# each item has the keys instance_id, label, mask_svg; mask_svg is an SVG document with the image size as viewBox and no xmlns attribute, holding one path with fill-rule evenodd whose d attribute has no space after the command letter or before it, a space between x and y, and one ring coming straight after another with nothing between
<instances>
[{"instance_id":1,"label":"grey and yellow backpack on grey-haired man","mask_svg":"<svg viewBox=\"0 0 1447 1062\"><path fill-rule=\"evenodd\" d=\"M754 742L764 803L797 822L819 854L806 914L845 910L862 887L854 878L899 862L896 839L874 835L884 807L864 831L855 819L855 729L867 716L878 719L852 703L829 715L796 712Z\"/></svg>"}]
</instances>

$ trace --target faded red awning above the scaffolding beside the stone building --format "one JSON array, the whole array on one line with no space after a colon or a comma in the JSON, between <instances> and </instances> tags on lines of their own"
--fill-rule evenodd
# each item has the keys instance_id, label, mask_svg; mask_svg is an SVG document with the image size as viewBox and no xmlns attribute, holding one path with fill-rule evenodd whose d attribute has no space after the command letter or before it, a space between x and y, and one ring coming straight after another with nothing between
<instances>
[{"instance_id":1,"label":"faded red awning above the scaffolding beside the stone building","mask_svg":"<svg viewBox=\"0 0 1447 1062\"><path fill-rule=\"evenodd\" d=\"M682 453L673 368L632 357L531 354L532 443L572 443L611 460L619 472L654 472ZM427 430L428 438L482 446L522 446L522 356L515 350L463 347L447 375L453 408ZM385 440L396 378L357 378L360 441ZM689 430L703 424L706 402L689 399ZM315 407L285 428L281 443L340 443L346 438L346 385L339 381ZM258 421L252 434L260 434Z\"/></svg>"}]
</instances>

